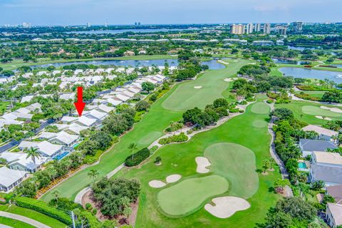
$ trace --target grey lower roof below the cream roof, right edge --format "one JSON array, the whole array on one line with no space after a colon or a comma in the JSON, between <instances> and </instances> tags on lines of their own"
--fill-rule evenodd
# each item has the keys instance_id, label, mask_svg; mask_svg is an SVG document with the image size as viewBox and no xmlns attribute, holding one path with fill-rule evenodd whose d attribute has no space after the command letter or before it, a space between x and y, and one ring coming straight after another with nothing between
<instances>
[{"instance_id":1,"label":"grey lower roof below the cream roof, right edge","mask_svg":"<svg viewBox=\"0 0 342 228\"><path fill-rule=\"evenodd\" d=\"M342 184L342 167L311 164L311 175L315 180Z\"/></svg>"}]
</instances>

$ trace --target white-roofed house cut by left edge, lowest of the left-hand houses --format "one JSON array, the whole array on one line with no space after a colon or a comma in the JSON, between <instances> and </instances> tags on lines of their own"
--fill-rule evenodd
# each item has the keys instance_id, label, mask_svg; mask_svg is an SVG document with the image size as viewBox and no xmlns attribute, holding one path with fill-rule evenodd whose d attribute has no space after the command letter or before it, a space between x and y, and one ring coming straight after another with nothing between
<instances>
[{"instance_id":1,"label":"white-roofed house cut by left edge, lowest of the left-hand houses","mask_svg":"<svg viewBox=\"0 0 342 228\"><path fill-rule=\"evenodd\" d=\"M0 191L9 192L16 185L19 185L27 175L27 172L24 171L0 167Z\"/></svg>"}]
</instances>

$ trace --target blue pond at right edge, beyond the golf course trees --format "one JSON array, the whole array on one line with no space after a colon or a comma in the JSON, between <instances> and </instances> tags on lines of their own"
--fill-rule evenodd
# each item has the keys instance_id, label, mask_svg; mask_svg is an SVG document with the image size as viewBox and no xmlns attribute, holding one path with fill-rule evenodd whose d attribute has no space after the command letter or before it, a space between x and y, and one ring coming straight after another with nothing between
<instances>
[{"instance_id":1,"label":"blue pond at right edge, beyond the golf course trees","mask_svg":"<svg viewBox=\"0 0 342 228\"><path fill-rule=\"evenodd\" d=\"M342 72L336 71L318 71L308 68L283 67L279 71L286 76L294 78L316 78L318 80L329 79L336 83L342 83Z\"/></svg>"}]
</instances>

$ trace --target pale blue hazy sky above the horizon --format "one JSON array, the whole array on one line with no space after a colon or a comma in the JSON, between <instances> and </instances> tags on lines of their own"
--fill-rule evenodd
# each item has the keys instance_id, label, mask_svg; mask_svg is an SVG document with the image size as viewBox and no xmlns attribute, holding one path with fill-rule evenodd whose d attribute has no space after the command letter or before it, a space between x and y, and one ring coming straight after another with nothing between
<instances>
[{"instance_id":1,"label":"pale blue hazy sky above the horizon","mask_svg":"<svg viewBox=\"0 0 342 228\"><path fill-rule=\"evenodd\" d=\"M341 0L0 0L0 25L342 21Z\"/></svg>"}]
</instances>

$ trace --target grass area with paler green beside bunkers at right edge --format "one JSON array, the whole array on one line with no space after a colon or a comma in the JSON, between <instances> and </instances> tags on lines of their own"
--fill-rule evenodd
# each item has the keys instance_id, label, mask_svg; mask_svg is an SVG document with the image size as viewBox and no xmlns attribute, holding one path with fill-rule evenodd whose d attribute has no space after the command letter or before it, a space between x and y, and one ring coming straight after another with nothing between
<instances>
[{"instance_id":1,"label":"grass area with paler green beside bunkers at right edge","mask_svg":"<svg viewBox=\"0 0 342 228\"><path fill-rule=\"evenodd\" d=\"M333 108L333 105L324 105L329 108ZM288 104L275 104L275 108L289 108L294 112L294 116L303 120L306 123L314 124L314 125L323 125L328 120L321 120L315 117L315 115L325 115L326 117L331 118L332 120L342 120L341 113L334 113L330 110L324 110L321 107L321 104L313 103L309 101L299 101L292 100L291 103Z\"/></svg>"}]
</instances>

